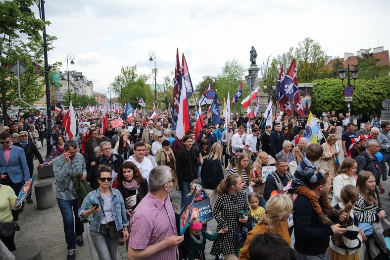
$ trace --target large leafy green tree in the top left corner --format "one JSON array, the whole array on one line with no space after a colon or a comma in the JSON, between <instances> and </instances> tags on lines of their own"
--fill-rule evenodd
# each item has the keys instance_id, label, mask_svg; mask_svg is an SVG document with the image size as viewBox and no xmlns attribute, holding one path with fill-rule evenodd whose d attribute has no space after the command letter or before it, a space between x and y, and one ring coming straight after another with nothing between
<instances>
[{"instance_id":1,"label":"large leafy green tree in the top left corner","mask_svg":"<svg viewBox=\"0 0 390 260\"><path fill-rule=\"evenodd\" d=\"M18 99L17 76L9 69L17 60L27 68L20 79L22 99L33 104L44 95L44 68L38 66L44 63L41 34L44 21L36 19L32 12L22 13L18 2L0 1L0 104L4 124L8 123L8 107L24 106ZM23 6L31 6L33 2L24 0ZM49 22L46 21L46 24L49 25ZM20 39L21 35L24 39ZM48 51L53 40L55 37L47 37Z\"/></svg>"}]
</instances>

